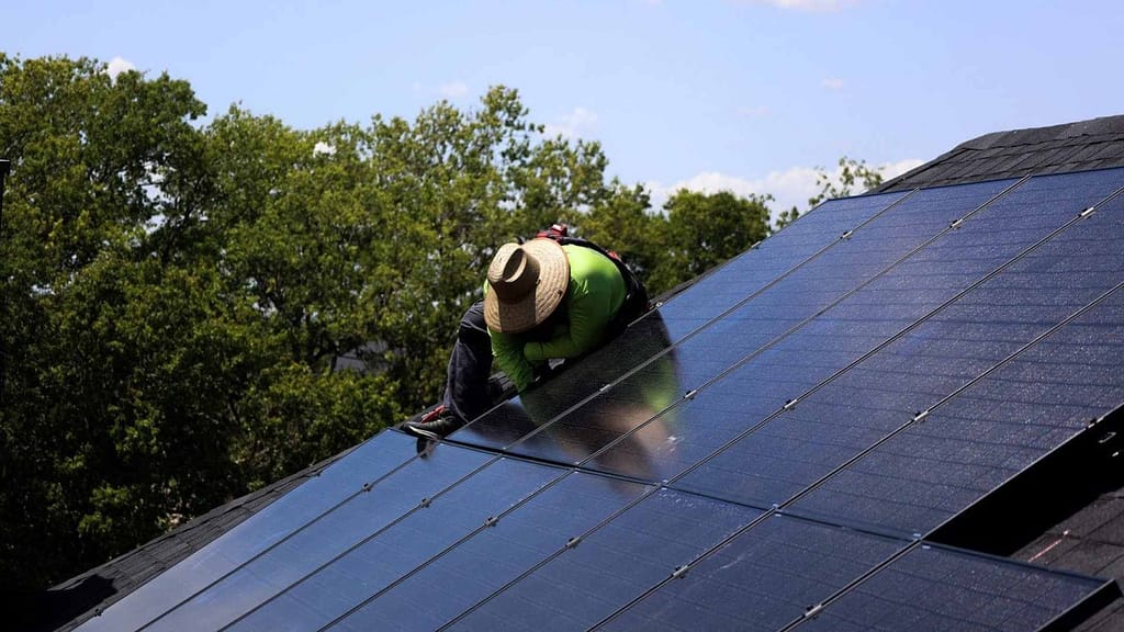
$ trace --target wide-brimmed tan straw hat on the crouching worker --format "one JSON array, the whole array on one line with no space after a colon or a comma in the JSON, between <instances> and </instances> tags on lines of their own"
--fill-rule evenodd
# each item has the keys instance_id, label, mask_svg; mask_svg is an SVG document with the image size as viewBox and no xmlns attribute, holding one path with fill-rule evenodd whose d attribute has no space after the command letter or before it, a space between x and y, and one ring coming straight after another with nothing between
<instances>
[{"instance_id":1,"label":"wide-brimmed tan straw hat on the crouching worker","mask_svg":"<svg viewBox=\"0 0 1124 632\"><path fill-rule=\"evenodd\" d=\"M484 322L504 334L541 324L565 296L570 262L554 240L504 244L488 267Z\"/></svg>"}]
</instances>

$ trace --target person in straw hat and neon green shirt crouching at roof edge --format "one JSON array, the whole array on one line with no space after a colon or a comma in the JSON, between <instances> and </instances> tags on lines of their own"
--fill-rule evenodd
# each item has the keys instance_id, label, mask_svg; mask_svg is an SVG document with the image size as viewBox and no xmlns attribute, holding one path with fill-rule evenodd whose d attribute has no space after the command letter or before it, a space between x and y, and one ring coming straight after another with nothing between
<instances>
[{"instance_id":1,"label":"person in straw hat and neon green shirt crouching at roof edge","mask_svg":"<svg viewBox=\"0 0 1124 632\"><path fill-rule=\"evenodd\" d=\"M461 318L442 405L401 428L418 452L488 410L495 358L519 392L553 359L596 350L647 309L647 294L616 253L570 237L555 224L535 238L500 246L488 267L484 298Z\"/></svg>"}]
</instances>

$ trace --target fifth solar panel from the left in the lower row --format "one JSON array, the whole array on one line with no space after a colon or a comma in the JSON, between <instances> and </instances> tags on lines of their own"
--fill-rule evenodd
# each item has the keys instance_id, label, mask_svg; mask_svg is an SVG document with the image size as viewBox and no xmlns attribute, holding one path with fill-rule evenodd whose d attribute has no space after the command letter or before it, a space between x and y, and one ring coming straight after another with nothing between
<instances>
[{"instance_id":1,"label":"fifth solar panel from the left in the lower row","mask_svg":"<svg viewBox=\"0 0 1124 632\"><path fill-rule=\"evenodd\" d=\"M459 620L454 630L584 630L760 514L661 489Z\"/></svg>"}]
</instances>

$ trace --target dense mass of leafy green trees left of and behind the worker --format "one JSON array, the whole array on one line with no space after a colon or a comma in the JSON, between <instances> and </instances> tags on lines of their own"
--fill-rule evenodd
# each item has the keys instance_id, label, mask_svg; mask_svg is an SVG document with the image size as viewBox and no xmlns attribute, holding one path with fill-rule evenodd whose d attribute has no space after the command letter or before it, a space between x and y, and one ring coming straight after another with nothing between
<instances>
[{"instance_id":1,"label":"dense mass of leafy green trees left of and behind the worker","mask_svg":"<svg viewBox=\"0 0 1124 632\"><path fill-rule=\"evenodd\" d=\"M63 579L434 401L492 253L562 220L653 294L767 198L606 178L515 90L293 129L166 74L0 55L0 586ZM334 370L357 353L371 371ZM55 554L44 557L44 550Z\"/></svg>"}]
</instances>

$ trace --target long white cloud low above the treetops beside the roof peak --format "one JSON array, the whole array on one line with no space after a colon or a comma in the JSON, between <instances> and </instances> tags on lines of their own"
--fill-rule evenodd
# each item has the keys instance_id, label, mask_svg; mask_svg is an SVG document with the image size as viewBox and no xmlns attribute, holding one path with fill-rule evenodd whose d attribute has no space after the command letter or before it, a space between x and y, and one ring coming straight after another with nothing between
<instances>
[{"instance_id":1,"label":"long white cloud low above the treetops beside the roof peak","mask_svg":"<svg viewBox=\"0 0 1124 632\"><path fill-rule=\"evenodd\" d=\"M923 164L925 161L917 159L906 159L892 163L879 165L877 169L882 174L883 180L900 175L910 169ZM833 180L839 182L842 169L836 168L831 173ZM819 172L810 166L794 166L785 171L770 171L763 178L741 178L726 173L705 171L687 180L680 180L671 184L660 182L646 182L649 191L652 193L652 208L661 208L668 198L679 189L699 191L704 193L716 193L718 191L732 191L738 196L772 195L774 198L769 204L769 208L776 216L781 210L788 210L794 206L801 213L808 208L808 198L819 193L816 184L816 177ZM854 191L854 195L861 191Z\"/></svg>"}]
</instances>

